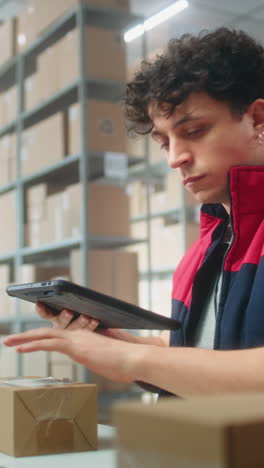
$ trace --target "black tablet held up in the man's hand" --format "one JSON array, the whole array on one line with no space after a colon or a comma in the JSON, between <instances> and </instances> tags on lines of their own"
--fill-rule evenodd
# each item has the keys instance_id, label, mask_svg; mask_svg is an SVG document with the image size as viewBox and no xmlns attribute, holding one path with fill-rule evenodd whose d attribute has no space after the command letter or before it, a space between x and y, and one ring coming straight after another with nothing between
<instances>
[{"instance_id":1,"label":"black tablet held up in the man's hand","mask_svg":"<svg viewBox=\"0 0 264 468\"><path fill-rule=\"evenodd\" d=\"M175 330L180 327L177 320L65 280L12 284L6 291L9 296L41 302L55 315L65 308L77 316L88 315L99 320L103 328Z\"/></svg>"}]
</instances>

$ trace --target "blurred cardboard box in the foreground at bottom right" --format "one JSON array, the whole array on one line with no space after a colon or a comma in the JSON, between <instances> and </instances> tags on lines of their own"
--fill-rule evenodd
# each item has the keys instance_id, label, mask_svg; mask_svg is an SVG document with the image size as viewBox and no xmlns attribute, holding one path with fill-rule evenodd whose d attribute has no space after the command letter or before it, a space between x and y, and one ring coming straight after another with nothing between
<instances>
[{"instance_id":1,"label":"blurred cardboard box in the foreground at bottom right","mask_svg":"<svg viewBox=\"0 0 264 468\"><path fill-rule=\"evenodd\" d=\"M264 466L261 393L123 403L113 416L118 468Z\"/></svg>"}]
</instances>

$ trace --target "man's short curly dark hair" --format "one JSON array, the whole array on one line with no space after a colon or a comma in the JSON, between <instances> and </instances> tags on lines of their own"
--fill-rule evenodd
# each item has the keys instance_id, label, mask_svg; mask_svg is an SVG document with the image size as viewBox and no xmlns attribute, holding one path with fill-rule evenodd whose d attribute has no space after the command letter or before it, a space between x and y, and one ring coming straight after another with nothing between
<instances>
[{"instance_id":1,"label":"man's short curly dark hair","mask_svg":"<svg viewBox=\"0 0 264 468\"><path fill-rule=\"evenodd\" d=\"M225 101L241 116L255 99L264 97L263 46L245 32L225 27L172 39L166 53L142 62L127 83L129 130L151 132L150 102L166 106L169 116L193 92Z\"/></svg>"}]
</instances>

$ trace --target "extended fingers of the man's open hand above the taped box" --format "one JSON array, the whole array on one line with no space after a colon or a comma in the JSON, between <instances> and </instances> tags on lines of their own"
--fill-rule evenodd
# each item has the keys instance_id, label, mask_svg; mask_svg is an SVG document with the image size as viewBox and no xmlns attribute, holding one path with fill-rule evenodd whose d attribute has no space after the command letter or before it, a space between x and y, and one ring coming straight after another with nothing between
<instances>
[{"instance_id":1,"label":"extended fingers of the man's open hand above the taped box","mask_svg":"<svg viewBox=\"0 0 264 468\"><path fill-rule=\"evenodd\" d=\"M29 343L30 341L38 341L43 339L51 338L63 338L66 330L60 330L59 328L38 328L34 330L28 330L23 333L16 335L10 335L3 340L6 346L17 346L22 343Z\"/></svg>"}]
</instances>

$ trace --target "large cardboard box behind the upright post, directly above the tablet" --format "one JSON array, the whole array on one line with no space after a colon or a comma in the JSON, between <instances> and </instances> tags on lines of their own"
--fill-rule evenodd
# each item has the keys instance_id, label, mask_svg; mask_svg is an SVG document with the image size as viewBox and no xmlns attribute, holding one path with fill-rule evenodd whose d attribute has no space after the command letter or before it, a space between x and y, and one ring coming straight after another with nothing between
<instances>
[{"instance_id":1,"label":"large cardboard box behind the upright post, directly above the tablet","mask_svg":"<svg viewBox=\"0 0 264 468\"><path fill-rule=\"evenodd\" d=\"M70 254L72 281L83 284L81 252ZM87 258L89 287L103 294L138 304L138 264L135 252L113 249L90 249Z\"/></svg>"}]
</instances>

